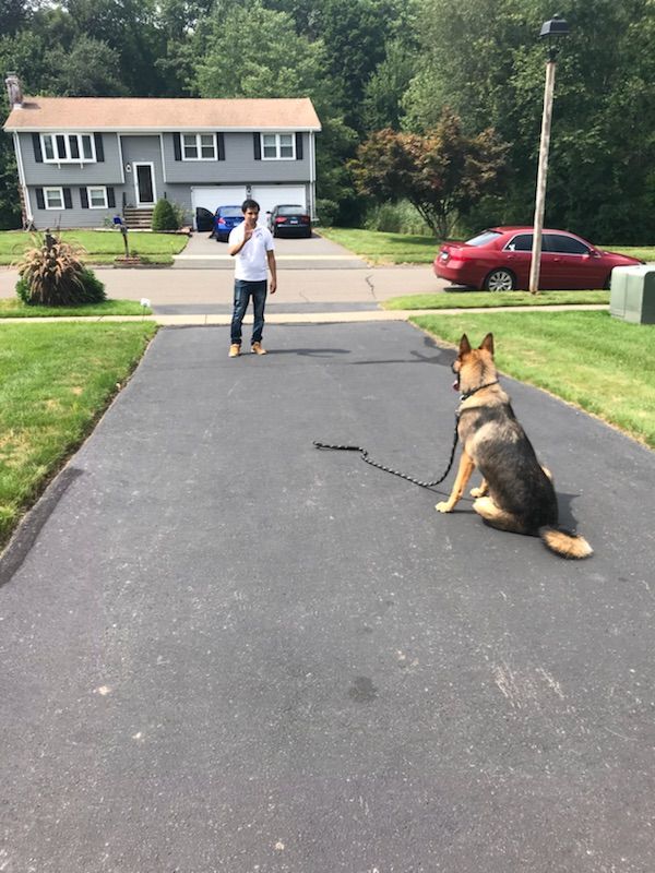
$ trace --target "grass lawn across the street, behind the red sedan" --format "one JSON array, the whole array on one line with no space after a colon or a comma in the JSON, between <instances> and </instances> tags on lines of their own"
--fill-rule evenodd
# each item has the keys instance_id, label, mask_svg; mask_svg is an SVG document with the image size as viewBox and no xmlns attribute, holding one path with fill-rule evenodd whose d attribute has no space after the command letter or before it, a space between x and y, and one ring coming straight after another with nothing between
<instances>
[{"instance_id":1,"label":"grass lawn across the street, behind the red sedan","mask_svg":"<svg viewBox=\"0 0 655 873\"><path fill-rule=\"evenodd\" d=\"M379 230L347 227L321 227L319 232L373 264L431 264L441 244L433 237L383 234ZM632 258L641 258L642 261L655 261L655 246L603 244L598 248L630 254Z\"/></svg>"}]
</instances>

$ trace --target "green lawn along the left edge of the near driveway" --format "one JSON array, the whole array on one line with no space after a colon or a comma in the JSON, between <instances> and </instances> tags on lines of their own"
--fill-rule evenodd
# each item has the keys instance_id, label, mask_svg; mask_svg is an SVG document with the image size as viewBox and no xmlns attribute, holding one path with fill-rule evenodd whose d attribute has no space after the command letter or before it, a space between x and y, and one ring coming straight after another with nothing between
<instances>
[{"instance_id":1,"label":"green lawn along the left edge of the near driveway","mask_svg":"<svg viewBox=\"0 0 655 873\"><path fill-rule=\"evenodd\" d=\"M150 322L0 324L0 546L156 330Z\"/></svg>"}]
</instances>

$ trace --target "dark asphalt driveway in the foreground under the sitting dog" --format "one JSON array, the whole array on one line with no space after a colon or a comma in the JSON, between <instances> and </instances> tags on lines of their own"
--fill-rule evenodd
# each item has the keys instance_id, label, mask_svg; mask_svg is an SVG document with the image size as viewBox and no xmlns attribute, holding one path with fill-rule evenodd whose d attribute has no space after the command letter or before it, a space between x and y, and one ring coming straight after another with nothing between
<instances>
[{"instance_id":1,"label":"dark asphalt driveway in the foreground under the sitting dog","mask_svg":"<svg viewBox=\"0 0 655 873\"><path fill-rule=\"evenodd\" d=\"M164 330L0 564L3 873L655 869L655 456L505 379L562 561L443 468L407 324Z\"/></svg>"}]
</instances>

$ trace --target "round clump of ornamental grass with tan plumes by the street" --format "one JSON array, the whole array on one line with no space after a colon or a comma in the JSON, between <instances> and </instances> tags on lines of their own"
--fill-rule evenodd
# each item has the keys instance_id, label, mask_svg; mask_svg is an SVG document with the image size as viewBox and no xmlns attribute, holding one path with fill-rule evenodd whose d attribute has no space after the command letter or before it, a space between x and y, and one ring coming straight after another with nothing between
<instances>
[{"instance_id":1,"label":"round clump of ornamental grass with tan plumes by the street","mask_svg":"<svg viewBox=\"0 0 655 873\"><path fill-rule=\"evenodd\" d=\"M46 231L16 264L16 294L27 306L74 307L106 299L105 286L80 255L84 249Z\"/></svg>"}]
</instances>

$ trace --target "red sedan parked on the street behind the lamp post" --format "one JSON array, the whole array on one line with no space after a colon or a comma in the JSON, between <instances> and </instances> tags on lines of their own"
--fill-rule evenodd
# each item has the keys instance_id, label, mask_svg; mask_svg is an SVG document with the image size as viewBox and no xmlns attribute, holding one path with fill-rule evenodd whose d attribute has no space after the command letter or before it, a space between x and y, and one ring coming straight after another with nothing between
<instances>
[{"instance_id":1,"label":"red sedan parked on the street behind the lamp post","mask_svg":"<svg viewBox=\"0 0 655 873\"><path fill-rule=\"evenodd\" d=\"M445 242L434 273L455 285L488 291L526 289L532 259L532 227L492 227L466 242ZM565 230L544 229L539 288L609 288L615 266L642 264L636 258L596 249Z\"/></svg>"}]
</instances>

